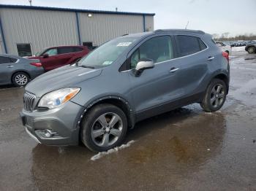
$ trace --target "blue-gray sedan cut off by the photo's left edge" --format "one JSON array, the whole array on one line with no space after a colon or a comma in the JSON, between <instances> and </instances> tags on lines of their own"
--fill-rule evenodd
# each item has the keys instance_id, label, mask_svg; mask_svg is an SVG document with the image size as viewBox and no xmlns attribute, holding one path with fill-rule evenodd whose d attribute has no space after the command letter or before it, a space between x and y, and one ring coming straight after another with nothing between
<instances>
[{"instance_id":1,"label":"blue-gray sedan cut off by the photo's left edge","mask_svg":"<svg viewBox=\"0 0 256 191\"><path fill-rule=\"evenodd\" d=\"M44 73L39 60L15 55L0 55L0 85L25 86L31 79Z\"/></svg>"}]
</instances>

